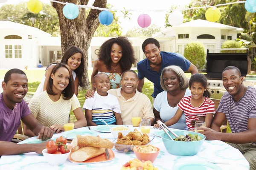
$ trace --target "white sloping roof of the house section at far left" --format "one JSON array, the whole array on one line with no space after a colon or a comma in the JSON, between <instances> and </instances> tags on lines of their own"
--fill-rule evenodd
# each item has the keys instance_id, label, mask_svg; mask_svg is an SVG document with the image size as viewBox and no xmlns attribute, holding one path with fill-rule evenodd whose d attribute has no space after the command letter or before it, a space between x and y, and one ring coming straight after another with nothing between
<instances>
[{"instance_id":1,"label":"white sloping roof of the house section at far left","mask_svg":"<svg viewBox=\"0 0 256 170\"><path fill-rule=\"evenodd\" d=\"M1 29L22 29L28 31L28 33L34 35L34 37L52 37L51 34L48 34L47 32L44 32L38 28L26 26L20 23L14 23L12 21L0 21L0 30Z\"/></svg>"}]
</instances>

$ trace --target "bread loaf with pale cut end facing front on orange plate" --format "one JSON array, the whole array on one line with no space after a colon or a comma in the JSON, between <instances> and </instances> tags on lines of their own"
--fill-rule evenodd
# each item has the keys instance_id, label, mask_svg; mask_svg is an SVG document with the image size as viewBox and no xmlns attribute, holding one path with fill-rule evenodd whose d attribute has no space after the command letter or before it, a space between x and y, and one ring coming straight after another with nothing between
<instances>
[{"instance_id":1,"label":"bread loaf with pale cut end facing front on orange plate","mask_svg":"<svg viewBox=\"0 0 256 170\"><path fill-rule=\"evenodd\" d=\"M105 148L100 147L80 147L79 150L72 152L70 154L71 159L74 161L82 162L88 159L94 158L96 156L105 153Z\"/></svg>"}]
</instances>

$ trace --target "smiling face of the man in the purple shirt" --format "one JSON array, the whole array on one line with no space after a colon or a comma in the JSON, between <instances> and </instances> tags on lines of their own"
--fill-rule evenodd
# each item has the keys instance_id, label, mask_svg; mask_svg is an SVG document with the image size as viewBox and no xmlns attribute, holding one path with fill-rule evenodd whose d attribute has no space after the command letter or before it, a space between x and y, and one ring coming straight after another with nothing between
<instances>
[{"instance_id":1,"label":"smiling face of the man in the purple shirt","mask_svg":"<svg viewBox=\"0 0 256 170\"><path fill-rule=\"evenodd\" d=\"M3 95L8 103L15 105L22 102L28 92L28 79L24 74L12 74L11 79L6 83L2 82Z\"/></svg>"}]
</instances>

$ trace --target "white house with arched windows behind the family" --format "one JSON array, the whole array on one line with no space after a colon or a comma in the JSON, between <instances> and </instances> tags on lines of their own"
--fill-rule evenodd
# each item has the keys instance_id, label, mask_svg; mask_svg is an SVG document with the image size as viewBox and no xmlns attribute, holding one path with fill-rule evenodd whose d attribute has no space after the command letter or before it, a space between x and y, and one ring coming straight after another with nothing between
<instances>
[{"instance_id":1,"label":"white house with arched windows behind the family","mask_svg":"<svg viewBox=\"0 0 256 170\"><path fill-rule=\"evenodd\" d=\"M161 51L183 54L190 41L201 41L205 48L221 48L225 40L236 40L237 33L243 28L236 28L205 20L194 20L167 29L153 36L160 42ZM148 37L129 38L134 47L137 62L144 59L141 48ZM105 37L93 37L89 47L88 66L93 67L100 45L108 40ZM61 38L38 28L10 21L0 21L0 68L35 68L39 60L43 66L61 60ZM136 67L136 65L134 65Z\"/></svg>"}]
</instances>

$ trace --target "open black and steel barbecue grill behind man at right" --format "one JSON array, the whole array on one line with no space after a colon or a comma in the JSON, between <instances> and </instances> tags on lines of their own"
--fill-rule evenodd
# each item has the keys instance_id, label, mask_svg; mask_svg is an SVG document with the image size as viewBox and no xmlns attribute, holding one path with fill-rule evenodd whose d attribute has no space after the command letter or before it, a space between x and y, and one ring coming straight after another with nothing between
<instances>
[{"instance_id":1,"label":"open black and steel barbecue grill behind man at right","mask_svg":"<svg viewBox=\"0 0 256 170\"><path fill-rule=\"evenodd\" d=\"M214 53L214 51L227 50L241 51L241 53ZM213 94L212 98L221 99L226 92L222 83L222 71L227 66L233 65L239 68L243 77L250 73L251 60L248 57L248 51L248 48L207 49L207 74L205 76L208 79L209 91ZM254 86L254 84L252 81L244 81L246 86Z\"/></svg>"}]
</instances>

